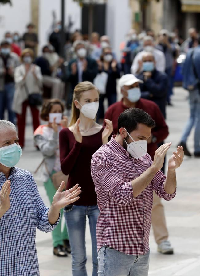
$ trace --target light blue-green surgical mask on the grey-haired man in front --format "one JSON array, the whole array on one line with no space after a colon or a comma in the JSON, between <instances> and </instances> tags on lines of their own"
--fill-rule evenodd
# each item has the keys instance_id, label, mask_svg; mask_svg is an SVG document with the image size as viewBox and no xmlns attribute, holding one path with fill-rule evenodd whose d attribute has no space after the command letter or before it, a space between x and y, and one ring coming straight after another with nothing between
<instances>
[{"instance_id":1,"label":"light blue-green surgical mask on the grey-haired man in front","mask_svg":"<svg viewBox=\"0 0 200 276\"><path fill-rule=\"evenodd\" d=\"M12 168L18 162L22 155L22 149L17 144L0 148L0 163L5 167Z\"/></svg>"}]
</instances>

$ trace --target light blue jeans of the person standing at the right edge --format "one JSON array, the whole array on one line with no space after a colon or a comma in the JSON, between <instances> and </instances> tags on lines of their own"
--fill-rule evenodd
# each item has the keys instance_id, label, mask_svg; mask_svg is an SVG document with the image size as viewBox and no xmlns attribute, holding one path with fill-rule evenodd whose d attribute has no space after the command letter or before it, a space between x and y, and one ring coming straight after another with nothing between
<instances>
[{"instance_id":1,"label":"light blue jeans of the person standing at the right edge","mask_svg":"<svg viewBox=\"0 0 200 276\"><path fill-rule=\"evenodd\" d=\"M195 89L189 93L189 103L190 103L190 118L182 133L181 142L187 141L190 132L195 127L194 132L194 152L200 152L200 94L199 90Z\"/></svg>"}]
</instances>

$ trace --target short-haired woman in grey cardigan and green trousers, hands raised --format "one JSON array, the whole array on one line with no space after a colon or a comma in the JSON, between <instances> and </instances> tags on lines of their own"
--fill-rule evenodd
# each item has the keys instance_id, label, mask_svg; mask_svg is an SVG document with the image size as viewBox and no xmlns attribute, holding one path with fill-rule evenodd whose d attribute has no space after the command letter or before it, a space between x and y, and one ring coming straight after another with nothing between
<instances>
[{"instance_id":1,"label":"short-haired woman in grey cardigan and green trousers, hands raised","mask_svg":"<svg viewBox=\"0 0 200 276\"><path fill-rule=\"evenodd\" d=\"M52 175L61 171L58 141L59 131L68 125L67 117L61 114L63 111L64 105L59 99L46 101L42 106L40 117L42 120L48 121L48 123L40 125L34 132L34 142L39 147L44 158L41 170L42 180L44 181L44 187L50 203L53 201L53 195L56 191L52 182ZM53 115L55 116L53 122L49 120L49 113L57 113ZM62 117L59 124L56 123L57 116ZM62 210L61 216L63 217ZM65 257L67 256L67 252L71 252L66 224L63 231L61 231L61 221L59 222L57 227L52 231L52 239L54 255Z\"/></svg>"}]
</instances>

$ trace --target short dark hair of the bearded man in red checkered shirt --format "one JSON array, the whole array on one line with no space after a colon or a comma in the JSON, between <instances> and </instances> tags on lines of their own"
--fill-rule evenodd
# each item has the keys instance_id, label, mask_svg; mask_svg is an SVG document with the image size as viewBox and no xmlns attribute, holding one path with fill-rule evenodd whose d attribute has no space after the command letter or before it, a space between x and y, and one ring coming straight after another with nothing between
<instances>
[{"instance_id":1,"label":"short dark hair of the bearded man in red checkered shirt","mask_svg":"<svg viewBox=\"0 0 200 276\"><path fill-rule=\"evenodd\" d=\"M122 112L118 118L118 134L120 128L126 128L128 133L137 129L138 124L144 124L150 128L155 127L155 121L140 108L129 108Z\"/></svg>"}]
</instances>

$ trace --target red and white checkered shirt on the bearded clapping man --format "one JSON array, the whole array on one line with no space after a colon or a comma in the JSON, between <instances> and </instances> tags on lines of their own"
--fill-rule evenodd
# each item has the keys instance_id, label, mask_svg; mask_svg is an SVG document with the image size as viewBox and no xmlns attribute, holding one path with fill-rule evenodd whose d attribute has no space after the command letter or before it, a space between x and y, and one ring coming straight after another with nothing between
<instances>
[{"instance_id":1,"label":"red and white checkered shirt on the bearded clapping man","mask_svg":"<svg viewBox=\"0 0 200 276\"><path fill-rule=\"evenodd\" d=\"M147 188L133 197L131 181L152 164L150 155L135 159L114 139L92 156L91 173L100 214L97 221L98 250L107 245L128 255L149 251L153 190L171 200L174 194L164 190L166 176L158 171Z\"/></svg>"}]
</instances>

